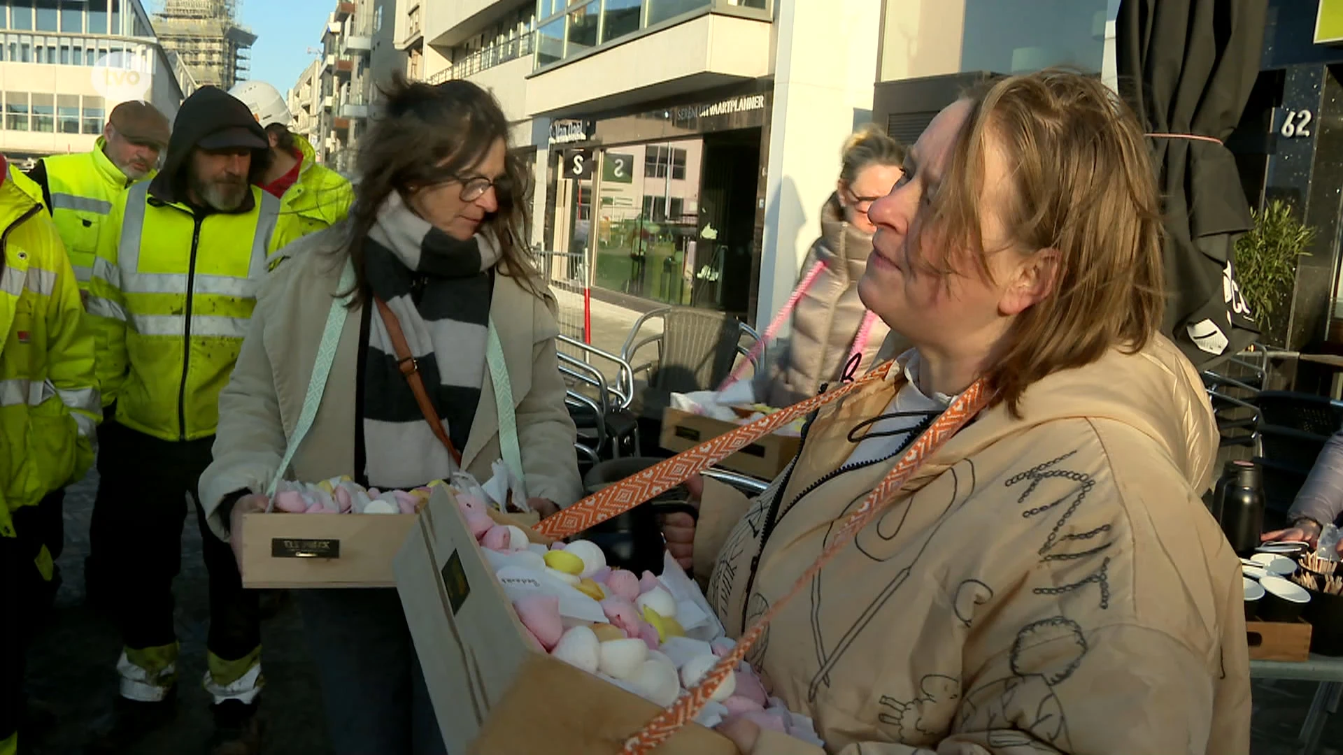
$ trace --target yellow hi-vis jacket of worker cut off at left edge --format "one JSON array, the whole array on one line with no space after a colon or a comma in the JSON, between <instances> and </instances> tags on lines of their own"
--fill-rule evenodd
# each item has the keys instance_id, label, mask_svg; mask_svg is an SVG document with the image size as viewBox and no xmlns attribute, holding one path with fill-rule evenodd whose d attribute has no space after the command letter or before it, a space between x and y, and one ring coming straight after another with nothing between
<instances>
[{"instance_id":1,"label":"yellow hi-vis jacket of worker cut off at left edge","mask_svg":"<svg viewBox=\"0 0 1343 755\"><path fill-rule=\"evenodd\" d=\"M40 197L8 169L0 184L0 537L15 536L11 510L83 477L102 418L93 335Z\"/></svg>"}]
</instances>

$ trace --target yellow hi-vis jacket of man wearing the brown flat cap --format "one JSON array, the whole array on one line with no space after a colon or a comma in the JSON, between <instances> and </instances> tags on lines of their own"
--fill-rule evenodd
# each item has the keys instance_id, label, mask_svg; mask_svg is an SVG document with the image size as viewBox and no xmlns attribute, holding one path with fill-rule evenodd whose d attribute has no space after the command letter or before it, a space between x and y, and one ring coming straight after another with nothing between
<instances>
[{"instance_id":1,"label":"yellow hi-vis jacket of man wearing the brown flat cap","mask_svg":"<svg viewBox=\"0 0 1343 755\"><path fill-rule=\"evenodd\" d=\"M103 137L98 137L93 152L42 159L51 196L51 219L66 243L81 292L89 289L98 250L117 243L117 228L107 223L111 206L138 183L128 179L107 157L103 152L106 144ZM141 180L148 181L153 176L150 172Z\"/></svg>"}]
</instances>

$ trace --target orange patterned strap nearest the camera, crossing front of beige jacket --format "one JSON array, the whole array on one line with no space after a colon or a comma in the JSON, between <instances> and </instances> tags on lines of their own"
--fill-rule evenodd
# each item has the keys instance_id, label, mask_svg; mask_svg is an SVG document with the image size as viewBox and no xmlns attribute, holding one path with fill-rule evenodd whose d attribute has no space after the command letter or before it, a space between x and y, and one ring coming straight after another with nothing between
<instances>
[{"instance_id":1,"label":"orange patterned strap nearest the camera, crossing front of beige jacket","mask_svg":"<svg viewBox=\"0 0 1343 755\"><path fill-rule=\"evenodd\" d=\"M737 641L737 646L728 653L719 665L713 668L704 680L689 691L689 693L682 695L670 708L662 711L655 719L647 723L642 731L629 739L624 743L624 748L620 750L622 755L645 755L651 752L655 747L672 738L681 727L693 721L694 717L704 709L704 705L709 701L709 696L719 688L719 685L733 673L739 664L745 658L747 652L752 645L760 638L764 627L768 626L771 621L784 606L788 605L798 594L807 590L811 580L821 574L821 570L849 543L854 539L860 529L872 524L882 512L885 512L896 498L896 493L900 488L924 465L928 458L937 451L947 441L951 439L967 422L974 419L986 406L988 406L992 394L988 391L984 380L980 378L974 386L960 394L955 402L947 407L947 411L937 418L932 426L919 437L913 445L905 451L896 466L881 480L881 482L873 488L868 497L864 498L862 504L845 520L841 525L839 532L830 541L829 545L821 552L821 558L817 559L811 567L798 578L798 582L792 584L792 588L779 601L776 601L770 609L760 617L745 634Z\"/></svg>"}]
</instances>

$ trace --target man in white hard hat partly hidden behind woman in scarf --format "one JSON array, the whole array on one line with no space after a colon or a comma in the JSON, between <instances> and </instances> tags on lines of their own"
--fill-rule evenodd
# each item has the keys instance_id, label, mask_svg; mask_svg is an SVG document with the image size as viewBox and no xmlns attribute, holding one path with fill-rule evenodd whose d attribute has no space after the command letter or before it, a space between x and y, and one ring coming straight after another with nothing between
<instances>
[{"instance_id":1,"label":"man in white hard hat partly hidden behind woman in scarf","mask_svg":"<svg viewBox=\"0 0 1343 755\"><path fill-rule=\"evenodd\" d=\"M270 138L270 167L258 185L281 200L277 238L289 243L344 219L355 197L349 181L318 165L308 140L289 130L293 117L279 91L266 82L244 81L228 93L251 109Z\"/></svg>"}]
</instances>

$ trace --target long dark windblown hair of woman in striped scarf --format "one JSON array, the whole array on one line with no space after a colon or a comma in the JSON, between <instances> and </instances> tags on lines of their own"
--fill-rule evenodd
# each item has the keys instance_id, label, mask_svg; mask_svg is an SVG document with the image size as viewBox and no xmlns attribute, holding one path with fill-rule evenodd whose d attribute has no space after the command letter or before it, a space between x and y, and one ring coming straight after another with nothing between
<instances>
[{"instance_id":1,"label":"long dark windblown hair of woman in striped scarf","mask_svg":"<svg viewBox=\"0 0 1343 755\"><path fill-rule=\"evenodd\" d=\"M502 250L500 274L541 297L536 269L528 262L522 245L530 173L512 152L508 118L494 95L467 81L427 85L407 81L400 73L383 89L383 113L360 140L356 160L359 180L345 245L355 265L352 304L361 304L367 290L364 239L387 197L393 191L404 196L410 187L466 172L483 160L498 140L508 148L505 177L494 184L498 210L485 216L482 230L489 228L498 239Z\"/></svg>"}]
</instances>

